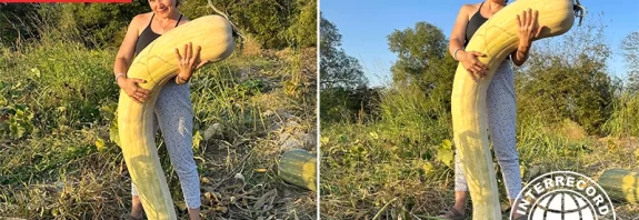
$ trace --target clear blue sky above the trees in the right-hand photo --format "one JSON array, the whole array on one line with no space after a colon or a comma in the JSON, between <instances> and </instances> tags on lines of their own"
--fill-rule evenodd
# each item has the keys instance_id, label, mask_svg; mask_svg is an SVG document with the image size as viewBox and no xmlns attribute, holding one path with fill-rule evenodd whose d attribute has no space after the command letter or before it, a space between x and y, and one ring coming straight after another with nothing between
<instances>
[{"instance_id":1,"label":"clear blue sky above the trees in the right-hand photo","mask_svg":"<svg viewBox=\"0 0 639 220\"><path fill-rule=\"evenodd\" d=\"M346 52L365 68L369 86L380 86L390 81L390 67L397 59L388 49L388 34L427 21L441 28L449 37L459 8L476 2L481 0L320 0L320 11L339 29ZM606 42L612 50L608 60L609 72L623 79L627 69L619 47L623 37L639 31L639 0L580 2L588 9L585 19L596 19L603 12L602 20L608 24Z\"/></svg>"}]
</instances>

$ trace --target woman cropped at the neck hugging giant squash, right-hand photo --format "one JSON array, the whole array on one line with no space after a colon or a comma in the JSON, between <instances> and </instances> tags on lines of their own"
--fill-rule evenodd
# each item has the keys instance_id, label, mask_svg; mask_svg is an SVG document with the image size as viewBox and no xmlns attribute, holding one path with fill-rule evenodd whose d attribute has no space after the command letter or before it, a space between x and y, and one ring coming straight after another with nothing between
<instances>
[{"instance_id":1,"label":"woman cropped at the neck hugging giant squash, right-hand photo","mask_svg":"<svg viewBox=\"0 0 639 220\"><path fill-rule=\"evenodd\" d=\"M468 73L478 80L487 74L488 68L477 58L486 56L479 51L465 51L472 34L479 27L492 17L497 11L506 7L507 0L486 0L476 4L465 4L459 10L457 21L452 28L449 51L452 57L461 62ZM528 59L532 40L535 40L541 27L537 24L537 11L528 9L517 16L519 27L519 47L509 58L503 60L496 70L487 93L488 122L490 138L495 154L506 183L506 191L512 206L516 197L521 191L521 174L519 171L519 156L517 153L515 120L516 98L515 79L510 62L521 66ZM455 206L440 214L447 219L465 219L466 203L468 201L468 186L463 176L459 156L456 154L455 166ZM515 213L513 219L526 219L525 216Z\"/></svg>"}]
</instances>

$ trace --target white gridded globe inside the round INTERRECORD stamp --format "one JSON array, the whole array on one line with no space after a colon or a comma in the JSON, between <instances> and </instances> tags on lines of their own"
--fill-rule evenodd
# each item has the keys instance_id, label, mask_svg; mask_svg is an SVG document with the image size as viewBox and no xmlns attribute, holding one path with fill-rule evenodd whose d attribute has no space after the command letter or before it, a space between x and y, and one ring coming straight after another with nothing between
<instances>
[{"instance_id":1,"label":"white gridded globe inside the round INTERRECORD stamp","mask_svg":"<svg viewBox=\"0 0 639 220\"><path fill-rule=\"evenodd\" d=\"M557 190L542 196L530 211L530 220L597 220L588 199L571 190Z\"/></svg>"}]
</instances>

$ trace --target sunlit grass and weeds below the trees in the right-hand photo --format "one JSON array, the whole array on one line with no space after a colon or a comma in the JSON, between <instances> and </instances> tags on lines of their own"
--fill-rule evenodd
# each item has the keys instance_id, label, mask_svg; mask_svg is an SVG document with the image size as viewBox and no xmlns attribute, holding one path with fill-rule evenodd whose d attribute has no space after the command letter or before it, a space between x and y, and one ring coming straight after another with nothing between
<instances>
[{"instance_id":1,"label":"sunlit grass and weeds below the trees in the right-hand photo","mask_svg":"<svg viewBox=\"0 0 639 220\"><path fill-rule=\"evenodd\" d=\"M322 219L428 219L452 206L450 114L433 103L436 100L416 92L411 88L386 92L380 104L382 119L322 123ZM636 156L638 143L628 133L595 137L570 120L547 123L522 114L518 114L517 131L525 184L557 170L595 180L607 169L636 170L637 160L631 156ZM506 211L508 200L499 170L497 177ZM615 207L619 219L639 217L637 206L618 202ZM470 203L466 212L472 214Z\"/></svg>"}]
</instances>

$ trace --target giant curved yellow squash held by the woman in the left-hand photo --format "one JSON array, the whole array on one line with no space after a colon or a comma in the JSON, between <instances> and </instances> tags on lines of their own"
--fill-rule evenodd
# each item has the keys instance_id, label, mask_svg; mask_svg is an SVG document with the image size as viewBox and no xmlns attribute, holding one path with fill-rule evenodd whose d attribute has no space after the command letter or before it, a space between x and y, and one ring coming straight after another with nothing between
<instances>
[{"instance_id":1,"label":"giant curved yellow squash held by the woman in the left-hand photo","mask_svg":"<svg viewBox=\"0 0 639 220\"><path fill-rule=\"evenodd\" d=\"M131 63L129 78L147 80L140 84L151 91L143 104L120 91L118 129L131 180L149 219L177 219L167 179L160 166L154 141L153 108L162 86L177 74L174 48L192 42L201 46L201 60L219 61L234 49L230 23L220 16L207 16L179 26L151 42Z\"/></svg>"}]
</instances>

